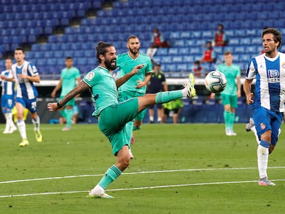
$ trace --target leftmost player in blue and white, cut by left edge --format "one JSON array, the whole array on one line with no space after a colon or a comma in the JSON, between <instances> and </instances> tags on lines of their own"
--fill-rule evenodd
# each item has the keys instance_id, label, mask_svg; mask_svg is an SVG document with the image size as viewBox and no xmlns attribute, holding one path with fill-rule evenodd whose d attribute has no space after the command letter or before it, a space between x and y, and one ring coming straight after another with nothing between
<instances>
[{"instance_id":1,"label":"leftmost player in blue and white, cut by left edge","mask_svg":"<svg viewBox=\"0 0 285 214\"><path fill-rule=\"evenodd\" d=\"M6 76L7 78L12 78L11 66L12 59L7 58L5 61L6 70L1 72L1 76ZM13 133L17 130L14 125L12 117L12 109L15 105L15 83L9 81L1 81L2 93L1 93L1 109L2 113L6 118L6 127L3 133Z\"/></svg>"}]
</instances>

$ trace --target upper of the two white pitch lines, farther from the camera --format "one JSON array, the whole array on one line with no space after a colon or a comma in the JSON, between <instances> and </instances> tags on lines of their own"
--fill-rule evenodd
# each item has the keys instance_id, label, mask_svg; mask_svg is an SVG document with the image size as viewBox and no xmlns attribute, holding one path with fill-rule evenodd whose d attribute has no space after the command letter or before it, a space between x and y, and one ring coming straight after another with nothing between
<instances>
[{"instance_id":1,"label":"upper of the two white pitch lines, farther from the camera","mask_svg":"<svg viewBox=\"0 0 285 214\"><path fill-rule=\"evenodd\" d=\"M257 169L257 167L244 167L244 168L205 168L205 169L172 169L172 170L160 170L160 171L138 171L131 173L122 173L122 175L137 175L137 174L150 174L150 173L172 173L172 172L181 172L181 171L218 171L218 170L249 170L249 169ZM268 169L285 169L285 167L268 167ZM84 178L84 177L98 177L103 176L104 174L97 175L70 175L70 176L61 176L61 177L51 177L51 178L33 178L33 179L25 179L25 180L8 180L0 182L0 184L10 184L16 182L31 182L38 180L57 180L57 179L65 179L65 178Z\"/></svg>"}]
</instances>

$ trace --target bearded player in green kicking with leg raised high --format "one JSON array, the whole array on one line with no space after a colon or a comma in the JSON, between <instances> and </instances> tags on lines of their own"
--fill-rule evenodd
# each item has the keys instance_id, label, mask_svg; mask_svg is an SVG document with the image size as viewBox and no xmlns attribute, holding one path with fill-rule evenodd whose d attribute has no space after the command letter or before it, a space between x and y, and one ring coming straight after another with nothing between
<instances>
[{"instance_id":1,"label":"bearded player in green kicking with leg raised high","mask_svg":"<svg viewBox=\"0 0 285 214\"><path fill-rule=\"evenodd\" d=\"M149 105L167 103L176 98L196 96L195 80L193 74L190 74L189 81L184 85L184 89L146 94L118 103L118 87L129 80L131 76L137 74L145 65L136 65L131 72L115 81L112 76L113 70L116 69L117 58L114 45L104 42L98 43L96 58L99 63L98 67L86 74L83 81L78 83L58 103L48 103L47 108L50 111L56 111L64 107L76 94L87 89L92 92L95 106L92 115L98 118L99 129L111 142L113 154L116 156L116 163L107 169L100 182L89 192L89 197L112 198L112 196L105 193L105 189L129 166L130 142L125 133L127 122L134 120Z\"/></svg>"}]
</instances>

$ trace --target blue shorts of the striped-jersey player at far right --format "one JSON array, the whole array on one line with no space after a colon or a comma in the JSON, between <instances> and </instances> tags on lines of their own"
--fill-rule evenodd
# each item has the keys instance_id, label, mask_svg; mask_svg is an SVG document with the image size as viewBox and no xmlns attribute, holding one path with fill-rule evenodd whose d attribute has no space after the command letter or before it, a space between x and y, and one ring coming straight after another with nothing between
<instances>
[{"instance_id":1,"label":"blue shorts of the striped-jersey player at far right","mask_svg":"<svg viewBox=\"0 0 285 214\"><path fill-rule=\"evenodd\" d=\"M271 130L271 144L276 145L282 117L283 113L270 111L264 107L253 109L253 120L257 135L260 137L266 131Z\"/></svg>"}]
</instances>

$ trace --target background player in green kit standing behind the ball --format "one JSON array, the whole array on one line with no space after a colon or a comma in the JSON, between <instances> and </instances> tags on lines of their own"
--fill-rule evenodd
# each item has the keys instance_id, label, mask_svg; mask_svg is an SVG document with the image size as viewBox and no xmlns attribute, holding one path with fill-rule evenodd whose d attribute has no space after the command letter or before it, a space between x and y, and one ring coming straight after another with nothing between
<instances>
[{"instance_id":1,"label":"background player in green kit standing behind the ball","mask_svg":"<svg viewBox=\"0 0 285 214\"><path fill-rule=\"evenodd\" d=\"M231 52L224 52L224 63L218 65L218 71L226 76L226 88L221 92L222 105L224 105L224 122L226 125L226 136L236 136L233 131L235 123L235 109L237 98L240 98L240 67L233 64ZM215 94L211 94L213 98Z\"/></svg>"}]
</instances>

